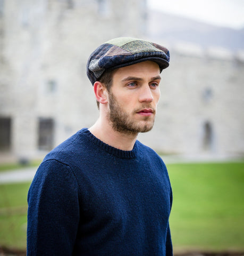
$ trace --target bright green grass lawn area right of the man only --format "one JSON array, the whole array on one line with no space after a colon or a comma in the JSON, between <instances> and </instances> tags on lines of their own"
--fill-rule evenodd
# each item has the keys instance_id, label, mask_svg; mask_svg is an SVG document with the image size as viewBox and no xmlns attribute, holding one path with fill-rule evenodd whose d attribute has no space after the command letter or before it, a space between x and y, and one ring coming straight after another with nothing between
<instances>
[{"instance_id":1,"label":"bright green grass lawn area right of the man only","mask_svg":"<svg viewBox=\"0 0 244 256\"><path fill-rule=\"evenodd\" d=\"M244 163L169 164L175 249L244 249Z\"/></svg>"}]
</instances>

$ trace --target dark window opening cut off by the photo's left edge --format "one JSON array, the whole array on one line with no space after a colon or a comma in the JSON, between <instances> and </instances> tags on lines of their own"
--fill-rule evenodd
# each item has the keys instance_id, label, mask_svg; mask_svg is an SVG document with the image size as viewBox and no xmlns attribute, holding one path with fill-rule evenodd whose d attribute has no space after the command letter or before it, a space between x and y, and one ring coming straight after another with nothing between
<instances>
[{"instance_id":1,"label":"dark window opening cut off by the photo's left edge","mask_svg":"<svg viewBox=\"0 0 244 256\"><path fill-rule=\"evenodd\" d=\"M0 117L0 151L9 151L11 147L11 118Z\"/></svg>"}]
</instances>

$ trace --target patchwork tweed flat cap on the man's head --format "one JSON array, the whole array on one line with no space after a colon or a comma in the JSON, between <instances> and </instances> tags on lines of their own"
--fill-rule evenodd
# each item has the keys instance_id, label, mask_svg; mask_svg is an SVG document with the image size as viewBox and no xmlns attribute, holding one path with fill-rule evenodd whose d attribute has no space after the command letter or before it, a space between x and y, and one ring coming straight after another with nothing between
<instances>
[{"instance_id":1,"label":"patchwork tweed flat cap on the man's head","mask_svg":"<svg viewBox=\"0 0 244 256\"><path fill-rule=\"evenodd\" d=\"M165 47L142 39L119 37L100 45L87 61L87 76L94 85L105 70L142 61L155 61L160 71L169 67L170 52Z\"/></svg>"}]
</instances>

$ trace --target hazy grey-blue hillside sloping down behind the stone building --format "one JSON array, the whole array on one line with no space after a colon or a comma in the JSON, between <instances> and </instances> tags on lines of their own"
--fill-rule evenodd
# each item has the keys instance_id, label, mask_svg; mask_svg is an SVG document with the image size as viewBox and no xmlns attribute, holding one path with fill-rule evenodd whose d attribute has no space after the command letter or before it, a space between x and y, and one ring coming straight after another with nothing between
<instances>
[{"instance_id":1,"label":"hazy grey-blue hillside sloping down behind the stone building","mask_svg":"<svg viewBox=\"0 0 244 256\"><path fill-rule=\"evenodd\" d=\"M208 25L204 22L148 11L148 36L169 43L188 42L203 47L224 47L231 51L244 50L244 28L237 30Z\"/></svg>"}]
</instances>

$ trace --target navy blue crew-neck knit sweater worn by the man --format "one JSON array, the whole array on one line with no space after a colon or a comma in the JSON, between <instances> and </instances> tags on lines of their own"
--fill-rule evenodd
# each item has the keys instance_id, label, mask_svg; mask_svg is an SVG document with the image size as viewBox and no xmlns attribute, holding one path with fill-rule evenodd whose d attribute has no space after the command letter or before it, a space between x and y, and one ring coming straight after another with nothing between
<instances>
[{"instance_id":1,"label":"navy blue crew-neck knit sweater worn by the man","mask_svg":"<svg viewBox=\"0 0 244 256\"><path fill-rule=\"evenodd\" d=\"M172 255L172 191L162 159L82 129L53 149L28 193L27 255Z\"/></svg>"}]
</instances>

